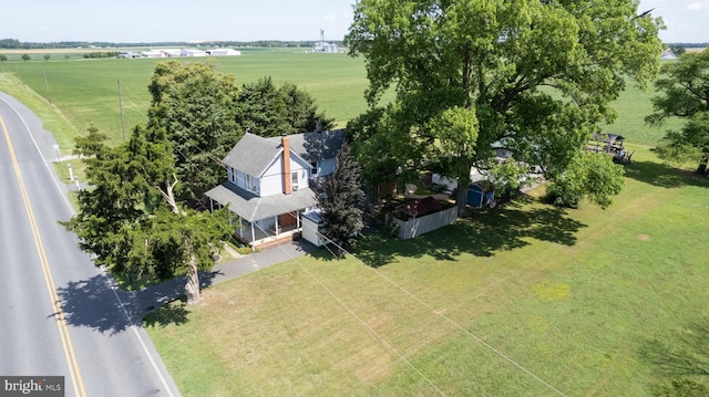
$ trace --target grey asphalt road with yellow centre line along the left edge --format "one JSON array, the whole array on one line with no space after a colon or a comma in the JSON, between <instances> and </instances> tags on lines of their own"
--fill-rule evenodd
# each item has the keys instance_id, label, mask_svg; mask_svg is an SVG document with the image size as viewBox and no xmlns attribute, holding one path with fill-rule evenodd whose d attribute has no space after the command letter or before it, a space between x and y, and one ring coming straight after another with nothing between
<instances>
[{"instance_id":1,"label":"grey asphalt road with yellow centre line along the left edge","mask_svg":"<svg viewBox=\"0 0 709 397\"><path fill-rule=\"evenodd\" d=\"M65 396L178 396L126 294L58 223L73 215L72 185L53 147L0 93L0 377L64 376Z\"/></svg>"}]
</instances>

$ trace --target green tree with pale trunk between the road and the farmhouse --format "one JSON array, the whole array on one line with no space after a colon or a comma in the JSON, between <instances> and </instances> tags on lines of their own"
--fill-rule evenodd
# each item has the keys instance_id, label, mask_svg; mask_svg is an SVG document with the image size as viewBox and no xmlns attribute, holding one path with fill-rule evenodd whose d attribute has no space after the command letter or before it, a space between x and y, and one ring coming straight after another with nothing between
<instances>
[{"instance_id":1,"label":"green tree with pale trunk between the road and the farmhouse","mask_svg":"<svg viewBox=\"0 0 709 397\"><path fill-rule=\"evenodd\" d=\"M89 142L95 138L99 143ZM79 212L66 229L96 265L134 283L186 275L188 303L199 301L198 270L208 270L219 240L229 234L226 212L197 213L175 199L174 157L165 130L136 127L131 139L109 147L92 129L76 150L86 158L90 189L79 192Z\"/></svg>"}]
</instances>

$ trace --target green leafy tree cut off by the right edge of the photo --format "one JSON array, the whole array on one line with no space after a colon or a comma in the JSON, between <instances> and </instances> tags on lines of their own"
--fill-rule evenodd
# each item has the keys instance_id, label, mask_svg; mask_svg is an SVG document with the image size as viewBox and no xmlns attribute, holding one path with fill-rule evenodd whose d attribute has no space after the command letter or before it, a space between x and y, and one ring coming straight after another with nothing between
<instances>
[{"instance_id":1,"label":"green leafy tree cut off by the right edge of the photo","mask_svg":"<svg viewBox=\"0 0 709 397\"><path fill-rule=\"evenodd\" d=\"M653 98L655 113L646 117L660 125L668 117L687 121L681 130L669 130L657 152L669 163L696 161L707 173L709 161L709 51L686 53L662 65L655 82L661 95Z\"/></svg>"}]
</instances>

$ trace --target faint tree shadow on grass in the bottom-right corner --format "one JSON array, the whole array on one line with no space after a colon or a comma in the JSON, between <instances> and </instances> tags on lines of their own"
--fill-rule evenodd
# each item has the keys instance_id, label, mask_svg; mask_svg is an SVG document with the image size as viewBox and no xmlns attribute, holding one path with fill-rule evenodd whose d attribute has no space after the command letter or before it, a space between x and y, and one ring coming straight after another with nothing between
<instances>
[{"instance_id":1,"label":"faint tree shadow on grass in the bottom-right corner","mask_svg":"<svg viewBox=\"0 0 709 397\"><path fill-rule=\"evenodd\" d=\"M647 341L640 347L640 357L662 377L709 380L709 318L697 320L672 336Z\"/></svg>"}]
</instances>

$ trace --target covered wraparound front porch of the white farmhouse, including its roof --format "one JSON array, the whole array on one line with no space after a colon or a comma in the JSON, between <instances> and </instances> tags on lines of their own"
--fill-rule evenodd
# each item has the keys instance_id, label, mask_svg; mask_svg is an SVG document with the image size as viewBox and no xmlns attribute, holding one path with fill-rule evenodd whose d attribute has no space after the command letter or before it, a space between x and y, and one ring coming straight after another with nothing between
<instances>
[{"instance_id":1,"label":"covered wraparound front porch of the white farmhouse, including its roof","mask_svg":"<svg viewBox=\"0 0 709 397\"><path fill-rule=\"evenodd\" d=\"M206 192L210 209L227 207L235 213L234 236L249 244L251 250L292 241L301 231L300 215L317 205L312 190L258 197L232 182L225 182Z\"/></svg>"}]
</instances>

